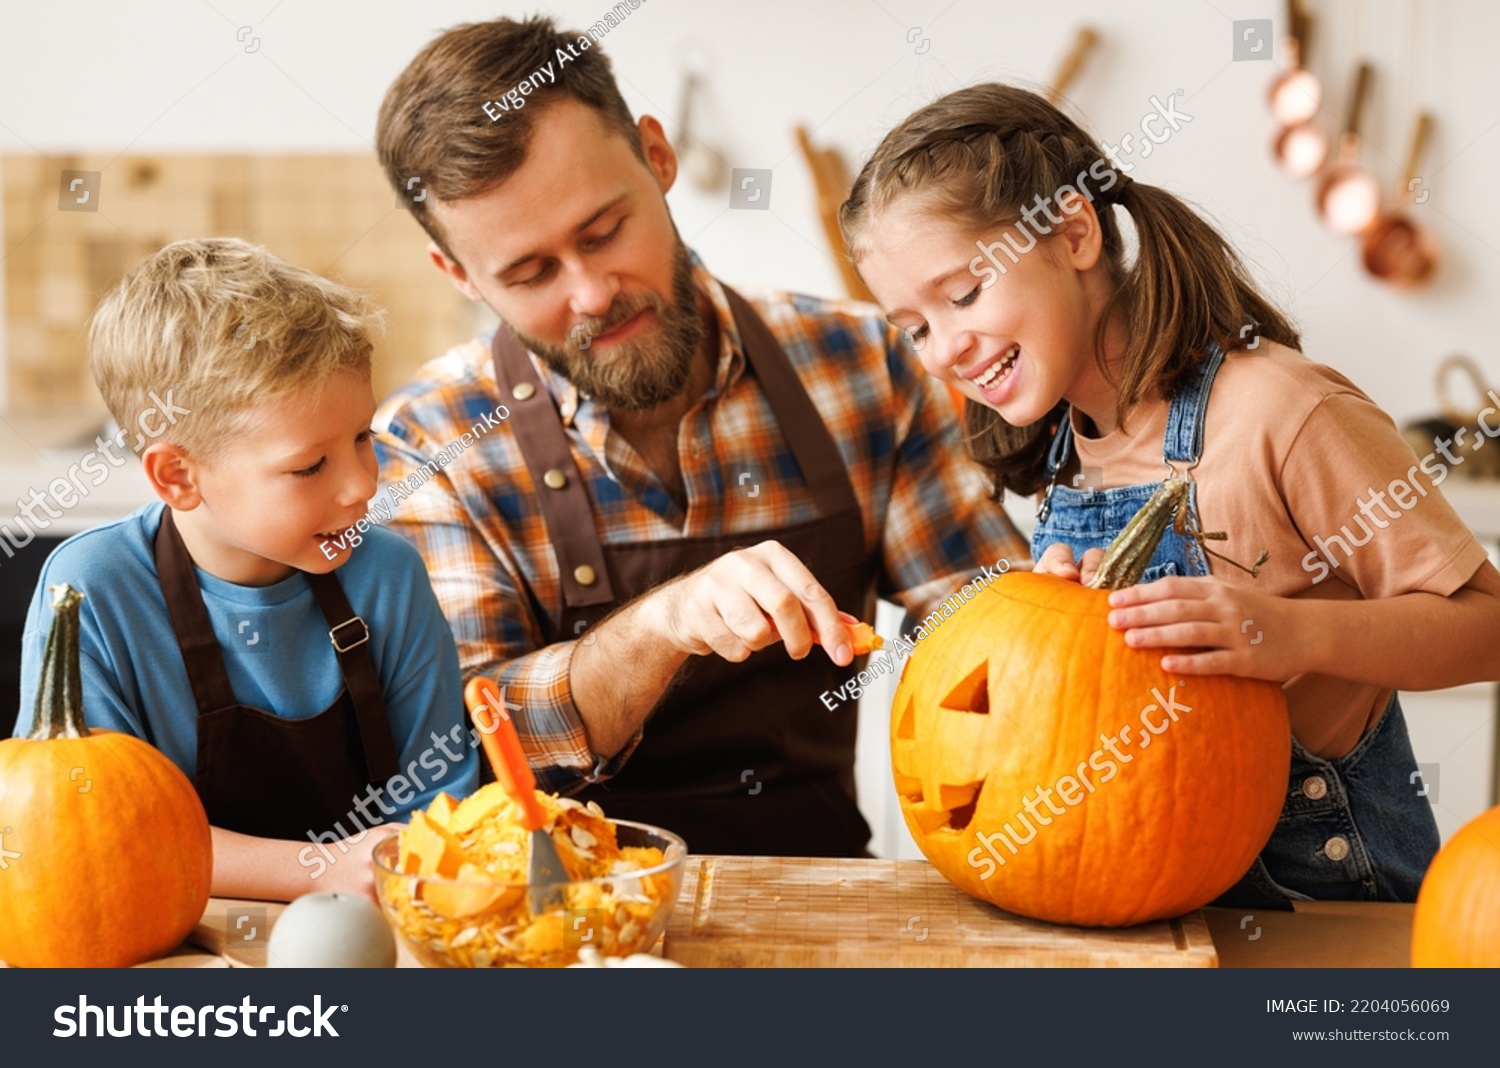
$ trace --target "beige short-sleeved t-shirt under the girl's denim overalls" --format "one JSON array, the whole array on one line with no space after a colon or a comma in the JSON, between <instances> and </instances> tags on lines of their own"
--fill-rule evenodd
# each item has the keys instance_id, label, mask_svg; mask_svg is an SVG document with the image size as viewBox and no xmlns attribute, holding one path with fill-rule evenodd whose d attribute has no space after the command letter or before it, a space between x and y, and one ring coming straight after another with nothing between
<instances>
[{"instance_id":1,"label":"beige short-sleeved t-shirt under the girl's denim overalls","mask_svg":"<svg viewBox=\"0 0 1500 1068\"><path fill-rule=\"evenodd\" d=\"M1084 436L1074 412L1076 459L1059 482L1068 484L1078 465L1096 468L1107 489L1160 482L1167 408L1142 405L1102 438ZM1263 340L1220 368L1192 477L1202 530L1228 532L1210 548L1245 566L1262 549L1270 560L1260 578L1212 556L1209 567L1278 597L1446 597L1486 558L1434 490L1448 466L1442 453L1413 456L1390 417L1341 374ZM1326 759L1347 753L1390 698L1330 675L1299 675L1284 688L1292 732Z\"/></svg>"}]
</instances>

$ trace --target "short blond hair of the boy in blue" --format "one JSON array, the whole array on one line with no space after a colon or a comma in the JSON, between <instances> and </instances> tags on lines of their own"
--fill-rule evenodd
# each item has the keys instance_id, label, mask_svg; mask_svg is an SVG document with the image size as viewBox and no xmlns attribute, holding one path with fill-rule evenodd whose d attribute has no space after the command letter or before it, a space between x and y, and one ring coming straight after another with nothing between
<instances>
[{"instance_id":1,"label":"short blond hair of the boy in blue","mask_svg":"<svg viewBox=\"0 0 1500 1068\"><path fill-rule=\"evenodd\" d=\"M99 303L88 370L124 440L213 458L248 408L370 370L380 312L364 297L232 237L174 242ZM159 408L172 390L177 416Z\"/></svg>"}]
</instances>

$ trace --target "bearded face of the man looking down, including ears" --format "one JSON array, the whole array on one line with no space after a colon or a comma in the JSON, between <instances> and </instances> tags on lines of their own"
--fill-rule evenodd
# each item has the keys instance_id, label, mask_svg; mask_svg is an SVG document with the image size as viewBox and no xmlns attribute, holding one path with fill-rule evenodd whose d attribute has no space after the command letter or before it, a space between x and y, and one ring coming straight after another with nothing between
<instances>
[{"instance_id":1,"label":"bearded face of the man looking down, including ears","mask_svg":"<svg viewBox=\"0 0 1500 1068\"><path fill-rule=\"evenodd\" d=\"M615 411L676 396L702 340L687 250L664 192L676 156L640 120L645 162L591 108L543 111L495 189L432 212L454 258L432 258L554 370Z\"/></svg>"}]
</instances>

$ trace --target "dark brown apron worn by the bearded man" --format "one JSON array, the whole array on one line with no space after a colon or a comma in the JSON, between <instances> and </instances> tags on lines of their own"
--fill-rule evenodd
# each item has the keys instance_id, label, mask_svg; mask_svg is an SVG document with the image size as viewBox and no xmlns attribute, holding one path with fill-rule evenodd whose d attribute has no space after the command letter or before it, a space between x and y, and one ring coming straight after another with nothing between
<instances>
[{"instance_id":1,"label":"dark brown apron worn by the bearded man","mask_svg":"<svg viewBox=\"0 0 1500 1068\"><path fill-rule=\"evenodd\" d=\"M562 580L561 615L538 610L549 644L573 639L618 604L768 538L795 554L840 609L862 618L873 608L873 561L838 448L770 328L740 294L728 286L724 294L750 369L818 506L813 520L602 544L552 396L516 338L504 326L495 332L495 380L507 404L518 396L516 386L531 384L510 406L508 422L537 486ZM561 486L550 489L555 483ZM692 657L620 774L578 796L597 800L612 818L676 831L699 854L864 855L870 828L855 804L856 706L842 704L830 712L819 700L861 666L856 660L838 668L820 648L792 660L780 644L738 664Z\"/></svg>"}]
</instances>

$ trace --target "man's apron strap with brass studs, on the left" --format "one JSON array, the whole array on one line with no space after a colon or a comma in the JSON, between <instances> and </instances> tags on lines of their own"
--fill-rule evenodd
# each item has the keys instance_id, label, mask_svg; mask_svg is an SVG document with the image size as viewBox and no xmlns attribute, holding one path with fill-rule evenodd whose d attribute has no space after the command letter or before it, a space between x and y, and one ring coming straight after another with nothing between
<instances>
[{"instance_id":1,"label":"man's apron strap with brass studs, on the left","mask_svg":"<svg viewBox=\"0 0 1500 1068\"><path fill-rule=\"evenodd\" d=\"M490 344L495 358L495 386L514 399L510 428L520 446L520 458L531 474L537 508L556 554L562 603L572 608L612 604L615 591L604 567L604 549L594 526L594 506L584 486L584 474L573 459L562 418L548 387L537 375L525 346L504 322L495 327ZM549 472L561 472L564 483L554 489ZM556 482L552 476L550 482ZM590 537L592 534L592 537ZM585 570L588 568L588 570ZM585 585L580 580L590 579Z\"/></svg>"}]
</instances>

